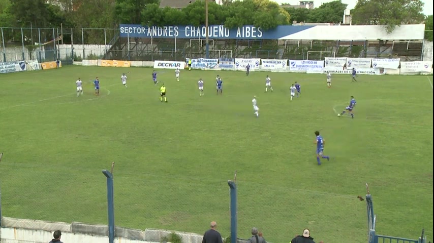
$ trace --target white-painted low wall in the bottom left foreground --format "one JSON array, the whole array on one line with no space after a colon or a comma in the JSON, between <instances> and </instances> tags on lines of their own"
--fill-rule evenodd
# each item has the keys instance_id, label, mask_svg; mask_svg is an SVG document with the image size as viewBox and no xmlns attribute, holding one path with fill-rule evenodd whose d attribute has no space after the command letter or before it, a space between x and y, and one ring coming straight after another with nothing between
<instances>
[{"instance_id":1,"label":"white-painted low wall in the bottom left foreground","mask_svg":"<svg viewBox=\"0 0 434 243\"><path fill-rule=\"evenodd\" d=\"M34 229L0 228L2 243L47 243L53 238L53 232ZM107 236L95 236L62 232L61 241L65 243L107 243ZM142 240L116 238L115 243L150 243Z\"/></svg>"}]
</instances>

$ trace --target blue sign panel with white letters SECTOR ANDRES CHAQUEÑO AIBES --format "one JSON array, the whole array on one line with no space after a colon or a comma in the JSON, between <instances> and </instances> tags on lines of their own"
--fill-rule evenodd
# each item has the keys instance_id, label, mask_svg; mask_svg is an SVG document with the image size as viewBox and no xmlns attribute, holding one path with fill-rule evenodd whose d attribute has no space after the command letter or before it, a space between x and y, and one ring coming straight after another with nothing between
<instances>
[{"instance_id":1,"label":"blue sign panel with white letters SECTOR ANDRES CHAQUE\u00d1O AIBES","mask_svg":"<svg viewBox=\"0 0 434 243\"><path fill-rule=\"evenodd\" d=\"M211 39L278 39L312 27L314 26L279 25L275 29L262 30L261 27L251 25L236 29L228 29L224 25L210 25L208 26L208 37ZM205 39L205 33L205 26L120 25L120 37Z\"/></svg>"}]
</instances>

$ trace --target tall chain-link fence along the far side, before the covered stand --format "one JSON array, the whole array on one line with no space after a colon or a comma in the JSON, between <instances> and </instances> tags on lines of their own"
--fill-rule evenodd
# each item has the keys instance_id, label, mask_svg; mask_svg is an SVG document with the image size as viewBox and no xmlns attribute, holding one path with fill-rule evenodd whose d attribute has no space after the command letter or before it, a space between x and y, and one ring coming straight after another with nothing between
<instances>
[{"instance_id":1,"label":"tall chain-link fence along the far side, before the covered stand","mask_svg":"<svg viewBox=\"0 0 434 243\"><path fill-rule=\"evenodd\" d=\"M35 60L64 63L83 59L183 61L206 57L206 39L184 30L158 29L146 37L121 35L121 29L1 28L2 61ZM160 31L160 32L159 32ZM172 31L172 32L170 32ZM181 33L180 31L184 31ZM122 36L122 37L121 37ZM169 37L170 36L170 37ZM187 36L178 38L177 36ZM191 38L189 37L191 36ZM324 60L325 57L401 58L419 61L429 41L300 41L267 39L208 39L209 58ZM430 49L432 50L432 48ZM425 52L430 52L428 49Z\"/></svg>"}]
</instances>

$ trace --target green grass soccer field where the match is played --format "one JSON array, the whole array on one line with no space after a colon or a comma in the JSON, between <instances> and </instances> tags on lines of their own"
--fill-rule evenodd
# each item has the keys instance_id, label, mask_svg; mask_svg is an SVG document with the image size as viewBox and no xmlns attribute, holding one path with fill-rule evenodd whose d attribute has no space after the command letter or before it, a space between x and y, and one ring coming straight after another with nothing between
<instances>
[{"instance_id":1,"label":"green grass soccer field where the match is played","mask_svg":"<svg viewBox=\"0 0 434 243\"><path fill-rule=\"evenodd\" d=\"M128 74L128 89L120 83ZM67 66L2 74L3 215L107 223L115 161L116 225L230 232L227 180L237 171L238 233L271 242L302 229L324 242L366 242L369 183L377 233L432 240L432 77L159 70ZM223 79L216 95L215 76ZM270 75L274 92L264 93ZM100 96L92 80L101 81ZM84 95L76 97L81 77ZM204 96L197 81L203 78ZM301 85L289 100L289 87ZM256 95L260 117L253 114ZM337 117L357 100L355 118ZM317 165L315 134L330 161Z\"/></svg>"}]
</instances>

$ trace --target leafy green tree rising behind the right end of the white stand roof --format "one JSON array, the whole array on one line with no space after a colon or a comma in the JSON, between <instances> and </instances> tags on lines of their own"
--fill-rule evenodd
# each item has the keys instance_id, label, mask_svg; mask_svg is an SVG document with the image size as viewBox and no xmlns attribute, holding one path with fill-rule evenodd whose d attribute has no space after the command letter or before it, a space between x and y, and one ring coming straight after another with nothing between
<instances>
[{"instance_id":1,"label":"leafy green tree rising behind the right end of the white stand roof","mask_svg":"<svg viewBox=\"0 0 434 243\"><path fill-rule=\"evenodd\" d=\"M419 24L424 15L421 0L358 0L352 10L354 24L386 25L391 33L395 26L401 24Z\"/></svg>"}]
</instances>

